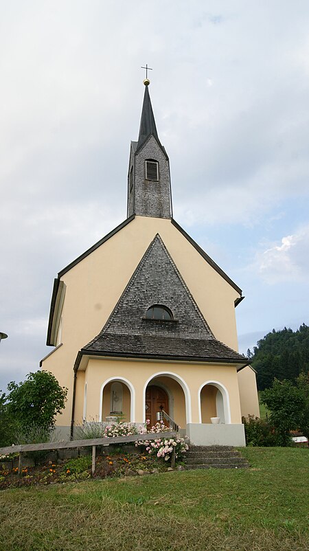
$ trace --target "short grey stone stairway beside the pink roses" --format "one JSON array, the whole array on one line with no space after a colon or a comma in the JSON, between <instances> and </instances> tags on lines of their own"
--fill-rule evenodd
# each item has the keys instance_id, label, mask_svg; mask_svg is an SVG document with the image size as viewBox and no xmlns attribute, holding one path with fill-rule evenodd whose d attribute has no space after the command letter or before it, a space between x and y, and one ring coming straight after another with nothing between
<instances>
[{"instance_id":1,"label":"short grey stone stairway beside the pink roses","mask_svg":"<svg viewBox=\"0 0 309 551\"><path fill-rule=\"evenodd\" d=\"M190 446L185 469L247 469L249 463L231 446Z\"/></svg>"}]
</instances>

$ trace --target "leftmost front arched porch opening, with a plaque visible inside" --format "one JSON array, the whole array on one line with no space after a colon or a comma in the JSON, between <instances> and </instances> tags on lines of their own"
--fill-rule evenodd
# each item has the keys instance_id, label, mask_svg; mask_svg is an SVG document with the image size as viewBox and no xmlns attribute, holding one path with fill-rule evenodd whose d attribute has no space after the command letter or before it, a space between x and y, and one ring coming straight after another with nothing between
<instances>
[{"instance_id":1,"label":"leftmost front arched porch opening, with a plaque visible inside","mask_svg":"<svg viewBox=\"0 0 309 551\"><path fill-rule=\"evenodd\" d=\"M102 403L100 408L100 420L115 415L126 422L131 418L131 392L126 383L119 379L108 381L102 389Z\"/></svg>"}]
</instances>

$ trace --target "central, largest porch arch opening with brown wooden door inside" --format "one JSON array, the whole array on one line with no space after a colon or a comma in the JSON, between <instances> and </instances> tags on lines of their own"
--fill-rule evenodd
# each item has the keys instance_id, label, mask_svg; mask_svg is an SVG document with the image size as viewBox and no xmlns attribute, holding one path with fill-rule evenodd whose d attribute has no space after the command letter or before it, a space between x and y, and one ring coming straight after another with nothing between
<instances>
[{"instance_id":1,"label":"central, largest porch arch opening with brown wooden door inside","mask_svg":"<svg viewBox=\"0 0 309 551\"><path fill-rule=\"evenodd\" d=\"M148 381L145 388L145 420L150 426L157 423L157 413L163 410L175 421L176 425L185 428L189 417L189 396L181 385L182 380L174 374L158 374ZM185 386L185 383L184 383ZM186 387L185 387L185 390Z\"/></svg>"}]
</instances>

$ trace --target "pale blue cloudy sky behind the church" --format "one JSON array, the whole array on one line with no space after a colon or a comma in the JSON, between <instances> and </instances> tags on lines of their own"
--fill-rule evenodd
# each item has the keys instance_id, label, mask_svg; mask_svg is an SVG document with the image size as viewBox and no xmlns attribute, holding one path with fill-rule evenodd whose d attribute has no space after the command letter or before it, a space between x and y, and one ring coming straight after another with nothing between
<instances>
[{"instance_id":1,"label":"pale blue cloudy sky behind the church","mask_svg":"<svg viewBox=\"0 0 309 551\"><path fill-rule=\"evenodd\" d=\"M11 0L0 19L0 389L58 271L126 218L145 71L175 220L240 286L240 352L309 324L309 3Z\"/></svg>"}]
</instances>

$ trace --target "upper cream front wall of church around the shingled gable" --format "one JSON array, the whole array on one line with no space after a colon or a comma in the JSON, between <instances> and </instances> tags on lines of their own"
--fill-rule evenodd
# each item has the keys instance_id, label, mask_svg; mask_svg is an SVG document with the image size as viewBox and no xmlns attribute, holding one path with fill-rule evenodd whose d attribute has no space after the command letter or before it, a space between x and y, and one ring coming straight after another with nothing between
<instances>
[{"instance_id":1,"label":"upper cream front wall of church around the shingled gable","mask_svg":"<svg viewBox=\"0 0 309 551\"><path fill-rule=\"evenodd\" d=\"M71 268L62 307L62 346L43 361L60 385L69 389L57 424L69 425L73 364L82 346L106 323L117 300L155 235L159 233L215 337L238 349L234 300L238 292L194 249L170 220L136 216L133 221Z\"/></svg>"}]
</instances>

